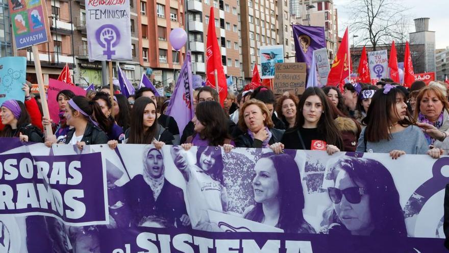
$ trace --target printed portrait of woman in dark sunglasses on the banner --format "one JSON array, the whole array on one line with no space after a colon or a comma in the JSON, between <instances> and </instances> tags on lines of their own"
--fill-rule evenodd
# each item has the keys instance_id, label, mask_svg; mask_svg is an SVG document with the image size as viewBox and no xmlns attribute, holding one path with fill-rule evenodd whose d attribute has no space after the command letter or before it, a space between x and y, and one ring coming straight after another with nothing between
<instances>
[{"instance_id":1,"label":"printed portrait of woman in dark sunglasses on the banner","mask_svg":"<svg viewBox=\"0 0 449 253\"><path fill-rule=\"evenodd\" d=\"M385 166L346 156L331 170L335 187L329 187L328 193L333 211L323 215L333 217L329 234L407 236L399 193Z\"/></svg>"}]
</instances>

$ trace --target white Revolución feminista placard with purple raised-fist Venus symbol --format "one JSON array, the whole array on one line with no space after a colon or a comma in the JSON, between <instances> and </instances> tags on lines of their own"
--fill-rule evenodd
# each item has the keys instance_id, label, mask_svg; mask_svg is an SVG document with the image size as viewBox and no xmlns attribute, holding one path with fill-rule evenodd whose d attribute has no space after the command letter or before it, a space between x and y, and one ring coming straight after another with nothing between
<instances>
[{"instance_id":1,"label":"white Revoluci\u00f3n feminista placard with purple raised-fist Venus symbol","mask_svg":"<svg viewBox=\"0 0 449 253\"><path fill-rule=\"evenodd\" d=\"M85 0L89 61L132 60L130 0Z\"/></svg>"}]
</instances>

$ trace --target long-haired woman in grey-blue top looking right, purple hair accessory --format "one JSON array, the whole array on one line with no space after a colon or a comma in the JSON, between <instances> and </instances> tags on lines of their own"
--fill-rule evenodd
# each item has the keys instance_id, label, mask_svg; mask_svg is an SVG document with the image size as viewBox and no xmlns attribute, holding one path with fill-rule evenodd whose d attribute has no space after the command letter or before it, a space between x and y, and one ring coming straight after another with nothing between
<instances>
[{"instance_id":1,"label":"long-haired woman in grey-blue top looking right, purple hair accessory","mask_svg":"<svg viewBox=\"0 0 449 253\"><path fill-rule=\"evenodd\" d=\"M439 157L439 149L429 150L426 137L410 120L405 95L390 84L372 97L360 134L357 152L389 153L393 159L403 154Z\"/></svg>"}]
</instances>

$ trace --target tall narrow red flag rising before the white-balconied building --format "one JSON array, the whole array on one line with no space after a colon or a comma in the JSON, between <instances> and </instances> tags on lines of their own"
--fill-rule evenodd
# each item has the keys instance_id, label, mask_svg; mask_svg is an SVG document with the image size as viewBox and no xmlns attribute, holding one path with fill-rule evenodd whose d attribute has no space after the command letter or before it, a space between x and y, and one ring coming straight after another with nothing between
<instances>
[{"instance_id":1,"label":"tall narrow red flag rising before the white-balconied building","mask_svg":"<svg viewBox=\"0 0 449 253\"><path fill-rule=\"evenodd\" d=\"M224 75L223 64L221 63L221 53L217 34L215 33L215 15L213 7L211 7L210 10L209 27L207 29L206 73L206 85L218 89L220 104L223 105L224 100L228 97L228 85L226 76ZM215 75L218 84L215 83Z\"/></svg>"}]
</instances>

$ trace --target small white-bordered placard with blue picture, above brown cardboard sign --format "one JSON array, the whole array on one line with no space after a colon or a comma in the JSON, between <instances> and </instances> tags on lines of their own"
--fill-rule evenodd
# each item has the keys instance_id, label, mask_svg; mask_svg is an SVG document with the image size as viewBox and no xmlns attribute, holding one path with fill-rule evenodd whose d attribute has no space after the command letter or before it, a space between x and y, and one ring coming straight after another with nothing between
<instances>
[{"instance_id":1,"label":"small white-bordered placard with blue picture, above brown cardboard sign","mask_svg":"<svg viewBox=\"0 0 449 253\"><path fill-rule=\"evenodd\" d=\"M283 45L267 45L260 47L260 79L275 77L275 65L284 62Z\"/></svg>"}]
</instances>

